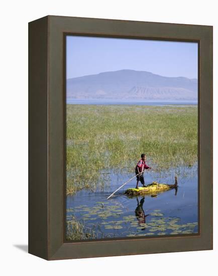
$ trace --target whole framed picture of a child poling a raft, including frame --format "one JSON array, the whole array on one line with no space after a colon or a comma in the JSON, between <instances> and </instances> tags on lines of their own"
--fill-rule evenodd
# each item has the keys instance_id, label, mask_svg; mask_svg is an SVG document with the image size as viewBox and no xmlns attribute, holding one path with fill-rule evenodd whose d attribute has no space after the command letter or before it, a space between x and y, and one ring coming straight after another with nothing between
<instances>
[{"instance_id":1,"label":"whole framed picture of a child poling a raft, including frame","mask_svg":"<svg viewBox=\"0 0 218 276\"><path fill-rule=\"evenodd\" d=\"M212 249L212 26L29 23L29 252Z\"/></svg>"}]
</instances>

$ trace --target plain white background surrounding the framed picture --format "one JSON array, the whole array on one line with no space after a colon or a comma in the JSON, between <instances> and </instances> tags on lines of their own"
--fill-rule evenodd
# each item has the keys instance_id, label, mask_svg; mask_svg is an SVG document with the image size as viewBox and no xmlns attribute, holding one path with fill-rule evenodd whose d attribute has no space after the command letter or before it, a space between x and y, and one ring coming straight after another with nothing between
<instances>
[{"instance_id":1,"label":"plain white background surrounding the framed picture","mask_svg":"<svg viewBox=\"0 0 218 276\"><path fill-rule=\"evenodd\" d=\"M207 1L48 0L1 4L1 265L2 275L184 275L217 273L217 8ZM214 249L45 261L28 243L28 22L46 15L213 25ZM211 271L213 270L213 272Z\"/></svg>"}]
</instances>

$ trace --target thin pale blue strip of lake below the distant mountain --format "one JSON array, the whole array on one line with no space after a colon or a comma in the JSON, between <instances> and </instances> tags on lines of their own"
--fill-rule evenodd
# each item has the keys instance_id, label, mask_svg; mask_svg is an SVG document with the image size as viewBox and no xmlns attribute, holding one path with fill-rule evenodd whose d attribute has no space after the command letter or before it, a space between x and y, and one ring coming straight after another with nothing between
<instances>
[{"instance_id":1,"label":"thin pale blue strip of lake below the distant mountain","mask_svg":"<svg viewBox=\"0 0 218 276\"><path fill-rule=\"evenodd\" d=\"M122 101L122 100L75 100L67 99L67 104L130 104L130 105L197 105L197 101Z\"/></svg>"}]
</instances>

